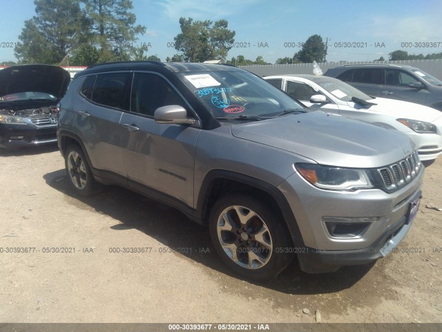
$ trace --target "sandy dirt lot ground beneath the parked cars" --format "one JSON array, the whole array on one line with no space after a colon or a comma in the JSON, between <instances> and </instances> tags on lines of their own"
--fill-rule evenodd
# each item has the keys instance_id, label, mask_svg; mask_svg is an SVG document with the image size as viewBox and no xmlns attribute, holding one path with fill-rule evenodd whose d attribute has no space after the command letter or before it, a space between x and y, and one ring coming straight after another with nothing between
<instances>
[{"instance_id":1,"label":"sandy dirt lot ground beneath the parked cars","mask_svg":"<svg viewBox=\"0 0 442 332\"><path fill-rule=\"evenodd\" d=\"M231 275L180 212L117 187L73 196L56 147L0 167L0 322L442 322L442 212L426 208L442 208L442 158L392 255L326 275L295 261L263 284ZM151 249L111 252L126 247Z\"/></svg>"}]
</instances>

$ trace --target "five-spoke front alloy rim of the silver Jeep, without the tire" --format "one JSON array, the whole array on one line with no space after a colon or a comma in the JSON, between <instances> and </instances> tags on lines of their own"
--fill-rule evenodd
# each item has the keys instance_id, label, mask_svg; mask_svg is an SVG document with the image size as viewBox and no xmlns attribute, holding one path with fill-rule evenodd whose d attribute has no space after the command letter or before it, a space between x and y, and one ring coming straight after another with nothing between
<instances>
[{"instance_id":1,"label":"five-spoke front alloy rim of the silver Jeep, without the tire","mask_svg":"<svg viewBox=\"0 0 442 332\"><path fill-rule=\"evenodd\" d=\"M220 213L216 231L222 249L239 266L255 270L269 262L273 251L270 231L253 210L229 206Z\"/></svg>"}]
</instances>

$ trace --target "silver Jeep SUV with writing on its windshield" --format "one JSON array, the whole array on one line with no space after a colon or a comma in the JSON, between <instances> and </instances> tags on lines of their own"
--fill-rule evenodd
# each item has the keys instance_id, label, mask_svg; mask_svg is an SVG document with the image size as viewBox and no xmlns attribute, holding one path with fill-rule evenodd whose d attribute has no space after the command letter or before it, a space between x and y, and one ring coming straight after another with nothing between
<instances>
[{"instance_id":1,"label":"silver Jeep SUV with writing on its windshield","mask_svg":"<svg viewBox=\"0 0 442 332\"><path fill-rule=\"evenodd\" d=\"M365 264L403 239L423 166L403 133L310 112L234 66L119 62L77 73L58 145L72 190L116 184L209 226L229 268Z\"/></svg>"}]
</instances>

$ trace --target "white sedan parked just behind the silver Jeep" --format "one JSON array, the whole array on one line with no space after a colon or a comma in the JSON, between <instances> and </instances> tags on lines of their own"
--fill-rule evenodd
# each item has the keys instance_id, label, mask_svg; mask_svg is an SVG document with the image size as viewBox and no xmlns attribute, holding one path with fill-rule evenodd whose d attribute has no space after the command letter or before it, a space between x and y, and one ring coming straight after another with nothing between
<instances>
[{"instance_id":1,"label":"white sedan parked just behind the silver Jeep","mask_svg":"<svg viewBox=\"0 0 442 332\"><path fill-rule=\"evenodd\" d=\"M421 160L442 154L442 113L414 102L374 98L333 77L276 75L264 77L311 110L338 114L406 133Z\"/></svg>"}]
</instances>

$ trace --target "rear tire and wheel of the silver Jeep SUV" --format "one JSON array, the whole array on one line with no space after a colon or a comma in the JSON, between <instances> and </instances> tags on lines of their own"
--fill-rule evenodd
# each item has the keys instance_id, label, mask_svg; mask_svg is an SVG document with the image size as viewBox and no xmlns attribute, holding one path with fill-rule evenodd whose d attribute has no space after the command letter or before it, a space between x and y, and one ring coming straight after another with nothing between
<instances>
[{"instance_id":1,"label":"rear tire and wheel of the silver Jeep SUV","mask_svg":"<svg viewBox=\"0 0 442 332\"><path fill-rule=\"evenodd\" d=\"M65 167L68 183L76 194L90 196L97 192L98 183L90 171L83 150L76 144L69 145L65 154Z\"/></svg>"}]
</instances>

